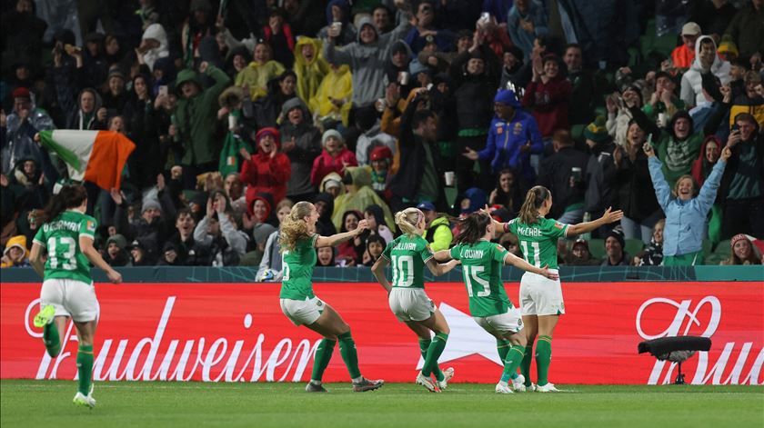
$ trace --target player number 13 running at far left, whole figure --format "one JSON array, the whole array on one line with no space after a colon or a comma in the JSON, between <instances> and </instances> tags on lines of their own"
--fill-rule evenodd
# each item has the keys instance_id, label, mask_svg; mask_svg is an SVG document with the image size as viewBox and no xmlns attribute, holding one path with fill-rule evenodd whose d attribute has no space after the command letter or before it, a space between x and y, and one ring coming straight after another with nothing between
<instances>
[{"instance_id":1,"label":"player number 13 running at far left, whole figure","mask_svg":"<svg viewBox=\"0 0 764 428\"><path fill-rule=\"evenodd\" d=\"M122 282L122 275L93 246L97 224L95 218L85 215L86 208L87 193L81 185L66 185L53 196L43 217L36 219L42 225L35 234L30 259L35 272L43 277L35 327L43 328L45 349L55 358L61 352L68 317L75 321L79 387L74 403L93 408L93 340L100 307L88 262L103 269L114 284ZM45 264L43 249L47 250Z\"/></svg>"}]
</instances>

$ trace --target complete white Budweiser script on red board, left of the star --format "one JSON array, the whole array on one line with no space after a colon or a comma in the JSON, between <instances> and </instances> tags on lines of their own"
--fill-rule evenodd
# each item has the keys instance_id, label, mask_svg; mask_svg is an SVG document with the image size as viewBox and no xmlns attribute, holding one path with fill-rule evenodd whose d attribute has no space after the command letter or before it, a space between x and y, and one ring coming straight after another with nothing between
<instances>
[{"instance_id":1,"label":"complete white Budweiser script on red board, left of the star","mask_svg":"<svg viewBox=\"0 0 764 428\"><path fill-rule=\"evenodd\" d=\"M128 339L104 340L96 351L93 378L96 381L298 382L320 342L302 339L293 343L292 339L282 338L267 356L264 352L266 335L263 333L257 334L256 343L248 345L244 340L229 343L225 337L211 340L198 337L181 343L183 341L179 339L165 337L175 303L176 296L167 298L152 337L133 343ZM39 299L27 305L25 316L26 331L35 338L41 337L42 333L32 329L30 314L38 305ZM243 327L245 330L252 327L251 314L244 316ZM76 340L73 323L69 323L63 343ZM55 379L59 364L72 356L64 351L52 359L45 353L35 378ZM143 364L139 367L141 361Z\"/></svg>"}]
</instances>

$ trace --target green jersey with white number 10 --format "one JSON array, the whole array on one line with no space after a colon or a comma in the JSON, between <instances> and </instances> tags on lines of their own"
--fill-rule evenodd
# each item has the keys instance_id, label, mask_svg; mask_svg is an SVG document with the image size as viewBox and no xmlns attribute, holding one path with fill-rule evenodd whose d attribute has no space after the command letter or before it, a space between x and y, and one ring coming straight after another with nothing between
<instances>
[{"instance_id":1,"label":"green jersey with white number 10","mask_svg":"<svg viewBox=\"0 0 764 428\"><path fill-rule=\"evenodd\" d=\"M382 257L393 265L394 287L425 288L423 271L433 257L425 238L402 234L387 244Z\"/></svg>"}]
</instances>

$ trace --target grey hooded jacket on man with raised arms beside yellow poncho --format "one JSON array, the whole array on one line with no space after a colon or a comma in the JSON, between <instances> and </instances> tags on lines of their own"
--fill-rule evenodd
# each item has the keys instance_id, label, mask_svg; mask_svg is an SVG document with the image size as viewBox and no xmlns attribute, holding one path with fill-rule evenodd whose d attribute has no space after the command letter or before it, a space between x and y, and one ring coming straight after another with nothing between
<instances>
[{"instance_id":1,"label":"grey hooded jacket on man with raised arms beside yellow poncho","mask_svg":"<svg viewBox=\"0 0 764 428\"><path fill-rule=\"evenodd\" d=\"M361 43L361 30L364 25L371 25L377 38L369 44ZM392 40L403 38L411 27L407 16L404 16L400 24L390 33L380 35L377 26L370 18L364 17L358 24L358 36L355 43L343 48L337 48L334 41L329 39L324 45L324 57L332 64L350 65L353 73L353 104L367 105L373 103L378 97L385 94L384 76L385 64L390 57L393 44Z\"/></svg>"}]
</instances>

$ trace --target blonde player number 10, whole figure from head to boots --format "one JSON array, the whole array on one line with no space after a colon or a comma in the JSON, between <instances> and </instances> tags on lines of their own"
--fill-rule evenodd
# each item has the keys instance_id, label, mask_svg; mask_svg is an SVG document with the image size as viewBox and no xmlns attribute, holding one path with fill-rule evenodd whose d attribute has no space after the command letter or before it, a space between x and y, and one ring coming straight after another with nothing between
<instances>
[{"instance_id":1,"label":"blonde player number 10, whole figure from head to boots","mask_svg":"<svg viewBox=\"0 0 764 428\"><path fill-rule=\"evenodd\" d=\"M422 234L427 229L425 214L417 208L407 208L396 213L396 224L403 232L387 244L385 251L372 266L371 272L387 291L387 302L398 321L406 323L408 328L419 336L419 351L425 359L422 371L417 374L417 384L437 393L447 387L447 382L454 377L454 369L441 372L437 367L437 358L443 353L448 340L448 323L435 304L425 294L425 282L422 277L424 267L434 275L446 274L458 264L452 260L447 264L437 264L432 250ZM385 267L393 264L393 284L387 281ZM430 331L435 338L430 339ZM436 383L430 376L435 374Z\"/></svg>"}]
</instances>

